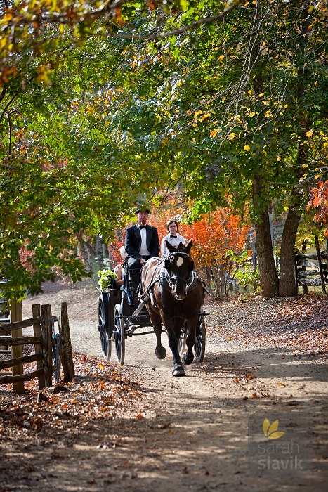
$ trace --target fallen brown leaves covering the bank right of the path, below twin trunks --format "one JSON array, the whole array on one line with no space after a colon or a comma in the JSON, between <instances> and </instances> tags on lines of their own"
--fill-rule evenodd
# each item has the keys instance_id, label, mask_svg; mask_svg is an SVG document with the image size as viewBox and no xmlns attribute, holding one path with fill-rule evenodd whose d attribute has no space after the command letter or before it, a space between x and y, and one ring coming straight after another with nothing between
<instances>
[{"instance_id":1,"label":"fallen brown leaves covering the bank right of the path, below twin trunks","mask_svg":"<svg viewBox=\"0 0 328 492\"><path fill-rule=\"evenodd\" d=\"M209 318L227 341L242 339L288 347L294 355L327 357L328 298L323 295L211 302Z\"/></svg>"}]
</instances>

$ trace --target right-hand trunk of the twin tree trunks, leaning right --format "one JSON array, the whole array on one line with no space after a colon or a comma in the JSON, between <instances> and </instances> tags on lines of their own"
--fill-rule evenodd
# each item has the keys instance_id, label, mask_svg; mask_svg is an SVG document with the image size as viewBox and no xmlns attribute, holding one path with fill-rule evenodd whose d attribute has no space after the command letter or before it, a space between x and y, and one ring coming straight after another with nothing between
<instances>
[{"instance_id":1,"label":"right-hand trunk of the twin tree trunks, leaning right","mask_svg":"<svg viewBox=\"0 0 328 492\"><path fill-rule=\"evenodd\" d=\"M300 219L301 215L295 212L295 208L289 207L280 249L279 295L281 297L293 297L299 292L295 275L295 240Z\"/></svg>"}]
</instances>

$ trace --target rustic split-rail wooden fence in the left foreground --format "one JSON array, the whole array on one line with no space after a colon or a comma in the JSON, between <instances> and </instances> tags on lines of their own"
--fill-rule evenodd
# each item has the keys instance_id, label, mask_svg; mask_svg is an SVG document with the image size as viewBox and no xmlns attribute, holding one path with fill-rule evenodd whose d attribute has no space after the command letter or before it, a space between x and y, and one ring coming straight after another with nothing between
<instances>
[{"instance_id":1,"label":"rustic split-rail wooden fence in the left foreground","mask_svg":"<svg viewBox=\"0 0 328 492\"><path fill-rule=\"evenodd\" d=\"M57 321L59 336L55 337L53 328L54 322ZM22 336L22 329L27 327L33 327L34 336ZM11 335L8 335L10 332ZM12 347L11 359L0 361L0 370L13 368L11 375L0 373L0 384L13 383L14 394L22 393L24 382L32 380L34 377L38 378L40 389L52 385L54 353L57 356L60 355L63 380L65 382L72 381L74 364L67 304L65 302L60 304L59 318L52 316L50 304L41 306L40 304L33 304L32 318L0 325L0 335L4 335L1 336L0 344ZM34 345L34 354L22 356L22 347L26 344ZM24 373L23 365L31 362L37 363L37 369L30 373Z\"/></svg>"}]
</instances>

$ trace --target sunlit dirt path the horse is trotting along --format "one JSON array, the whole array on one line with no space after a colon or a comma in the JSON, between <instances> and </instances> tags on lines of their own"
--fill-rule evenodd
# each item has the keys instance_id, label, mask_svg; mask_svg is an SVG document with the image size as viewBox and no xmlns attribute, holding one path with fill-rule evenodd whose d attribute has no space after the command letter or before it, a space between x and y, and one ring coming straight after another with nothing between
<instances>
[{"instance_id":1,"label":"sunlit dirt path the horse is trotting along","mask_svg":"<svg viewBox=\"0 0 328 492\"><path fill-rule=\"evenodd\" d=\"M67 302L74 351L101 357L97 297L81 287L46 292L37 302L53 312ZM33 302L24 302L24 317ZM248 316L244 308L236 313ZM227 339L218 336L220 316L206 321L205 360L186 377L171 376L171 357L157 361L154 335L128 339L118 370L140 382L145 396L126 417L92 433L78 429L74 443L44 436L22 450L30 471L22 466L16 484L2 481L0 492L326 491L327 360ZM266 436L265 418L278 420L264 424ZM284 436L273 439L274 432Z\"/></svg>"}]
</instances>

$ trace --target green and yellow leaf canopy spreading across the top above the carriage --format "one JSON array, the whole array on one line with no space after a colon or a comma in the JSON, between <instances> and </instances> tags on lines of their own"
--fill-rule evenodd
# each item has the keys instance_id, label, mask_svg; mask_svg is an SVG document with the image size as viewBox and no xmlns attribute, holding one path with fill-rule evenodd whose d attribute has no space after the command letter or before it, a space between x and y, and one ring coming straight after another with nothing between
<instances>
[{"instance_id":1,"label":"green and yellow leaf canopy spreading across the top above the carriage","mask_svg":"<svg viewBox=\"0 0 328 492\"><path fill-rule=\"evenodd\" d=\"M227 190L243 210L256 174L258 203L280 207L310 185L307 166L322 174L323 2L4 6L0 271L11 295L37 292L55 265L79 278L81 231L110 238L137 201L160 205L178 183L192 221ZM310 157L296 163L300 145Z\"/></svg>"}]
</instances>

